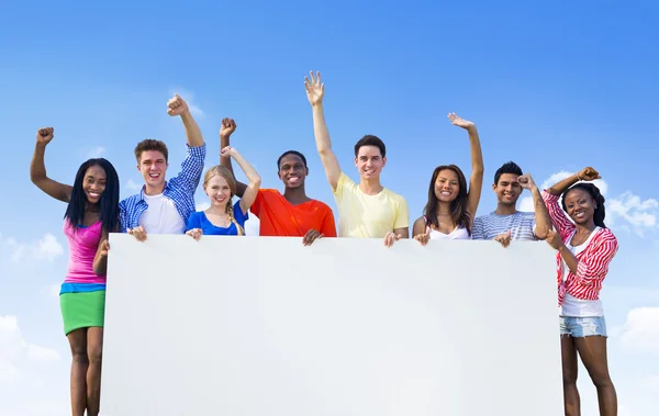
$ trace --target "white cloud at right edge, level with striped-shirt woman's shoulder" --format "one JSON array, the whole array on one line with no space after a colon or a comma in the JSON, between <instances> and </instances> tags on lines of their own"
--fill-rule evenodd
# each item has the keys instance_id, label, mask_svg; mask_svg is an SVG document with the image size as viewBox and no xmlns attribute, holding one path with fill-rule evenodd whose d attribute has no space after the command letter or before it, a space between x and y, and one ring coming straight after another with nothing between
<instances>
[{"instance_id":1,"label":"white cloud at right edge, level with striped-shirt woman's shoulder","mask_svg":"<svg viewBox=\"0 0 659 416\"><path fill-rule=\"evenodd\" d=\"M648 229L657 229L659 202L655 199L641 200L640 196L627 191L606 201L606 209L614 217L621 218L625 226L639 237Z\"/></svg>"}]
</instances>

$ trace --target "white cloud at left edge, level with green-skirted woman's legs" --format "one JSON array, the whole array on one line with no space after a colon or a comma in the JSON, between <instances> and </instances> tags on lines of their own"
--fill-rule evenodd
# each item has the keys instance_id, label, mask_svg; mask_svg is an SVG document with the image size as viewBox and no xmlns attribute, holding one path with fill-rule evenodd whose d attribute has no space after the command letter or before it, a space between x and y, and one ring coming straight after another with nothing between
<instances>
[{"instance_id":1,"label":"white cloud at left edge, level with green-skirted woman's legs","mask_svg":"<svg viewBox=\"0 0 659 416\"><path fill-rule=\"evenodd\" d=\"M59 361L54 349L27 342L15 316L0 316L0 383L13 383L25 364Z\"/></svg>"}]
</instances>

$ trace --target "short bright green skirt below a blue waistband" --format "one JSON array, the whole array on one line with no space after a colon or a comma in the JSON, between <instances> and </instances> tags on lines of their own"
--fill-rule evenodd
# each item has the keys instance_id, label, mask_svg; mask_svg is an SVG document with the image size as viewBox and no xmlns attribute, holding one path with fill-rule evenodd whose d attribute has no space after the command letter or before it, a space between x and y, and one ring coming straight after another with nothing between
<instances>
[{"instance_id":1,"label":"short bright green skirt below a blue waistband","mask_svg":"<svg viewBox=\"0 0 659 416\"><path fill-rule=\"evenodd\" d=\"M59 308L65 335L79 328L102 328L105 321L105 291L62 293Z\"/></svg>"}]
</instances>

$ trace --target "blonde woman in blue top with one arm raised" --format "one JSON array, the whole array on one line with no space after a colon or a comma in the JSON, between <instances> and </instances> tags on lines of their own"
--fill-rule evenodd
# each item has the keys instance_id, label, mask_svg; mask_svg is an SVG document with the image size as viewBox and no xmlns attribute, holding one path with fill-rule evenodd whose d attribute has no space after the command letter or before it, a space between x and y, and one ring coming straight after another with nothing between
<instances>
[{"instance_id":1,"label":"blonde woman in blue top with one arm raised","mask_svg":"<svg viewBox=\"0 0 659 416\"><path fill-rule=\"evenodd\" d=\"M256 200L260 187L260 177L243 156L233 147L224 147L220 153L222 157L232 157L241 166L249 183L243 198L235 204L233 196L236 194L236 179L223 166L214 166L203 178L203 190L209 195L211 206L190 215L186 234L194 239L205 235L245 235L245 221L249 217L247 212Z\"/></svg>"}]
</instances>

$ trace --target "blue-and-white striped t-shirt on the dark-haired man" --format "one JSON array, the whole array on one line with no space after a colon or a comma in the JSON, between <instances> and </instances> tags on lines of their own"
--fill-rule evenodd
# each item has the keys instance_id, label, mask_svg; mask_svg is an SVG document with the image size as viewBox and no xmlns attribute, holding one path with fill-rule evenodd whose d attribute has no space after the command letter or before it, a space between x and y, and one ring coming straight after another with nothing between
<instances>
[{"instance_id":1,"label":"blue-and-white striped t-shirt on the dark-haired man","mask_svg":"<svg viewBox=\"0 0 659 416\"><path fill-rule=\"evenodd\" d=\"M473 239L494 239L501 233L511 231L511 240L536 241L535 213L517 211L511 215L498 215L493 212L473 220L471 231Z\"/></svg>"}]
</instances>

